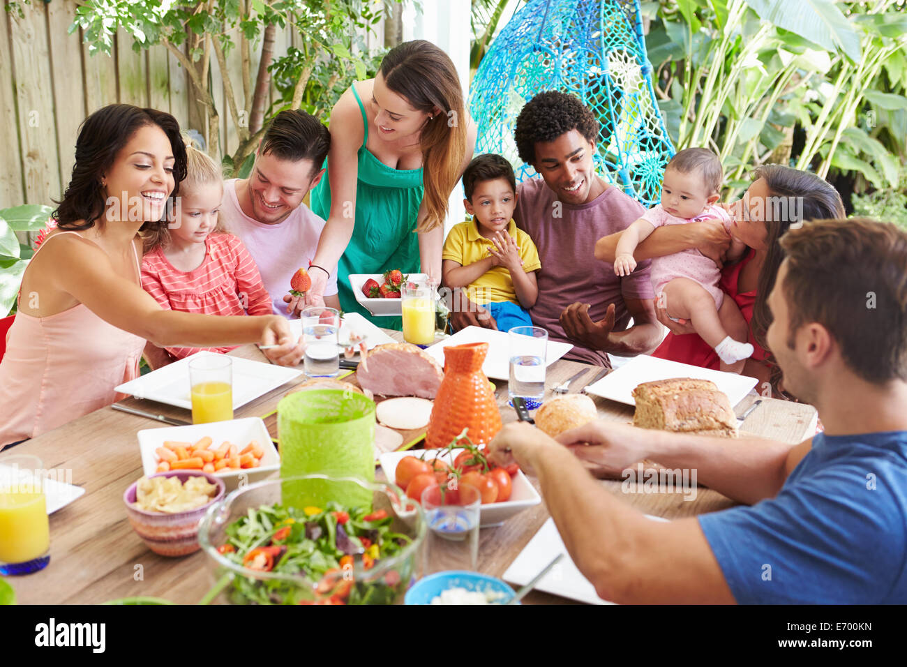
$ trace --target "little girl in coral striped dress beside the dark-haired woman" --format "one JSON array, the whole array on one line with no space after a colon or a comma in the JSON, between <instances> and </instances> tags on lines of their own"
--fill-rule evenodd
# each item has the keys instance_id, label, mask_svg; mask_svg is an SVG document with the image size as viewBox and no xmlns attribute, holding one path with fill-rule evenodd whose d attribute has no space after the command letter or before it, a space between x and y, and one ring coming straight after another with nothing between
<instances>
[{"instance_id":1,"label":"little girl in coral striped dress beside the dark-haired woman","mask_svg":"<svg viewBox=\"0 0 907 667\"><path fill-rule=\"evenodd\" d=\"M141 287L163 309L270 315L270 297L255 261L243 242L220 224L221 199L223 181L218 165L187 145L186 178L180 183L176 222L143 234ZM233 347L158 348L149 343L145 354L151 367L158 368L201 349L229 352Z\"/></svg>"}]
</instances>

